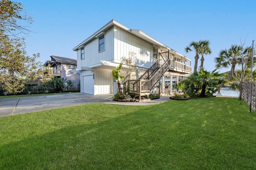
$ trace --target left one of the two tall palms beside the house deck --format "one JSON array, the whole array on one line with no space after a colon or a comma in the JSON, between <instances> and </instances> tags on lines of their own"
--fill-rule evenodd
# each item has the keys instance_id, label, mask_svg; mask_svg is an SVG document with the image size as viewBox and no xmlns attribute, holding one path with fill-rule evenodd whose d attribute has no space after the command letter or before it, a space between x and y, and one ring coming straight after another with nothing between
<instances>
[{"instance_id":1,"label":"left one of the two tall palms beside the house deck","mask_svg":"<svg viewBox=\"0 0 256 170\"><path fill-rule=\"evenodd\" d=\"M187 47L185 47L185 51L186 53L190 52L190 51L194 51L196 53L196 56L195 56L195 65L194 65L194 72L197 72L197 65L198 65L198 59L200 58L199 57L199 54L201 53L202 51L202 43L203 41L200 40L198 42L196 41L192 41ZM192 48L192 49L191 49Z\"/></svg>"}]
</instances>

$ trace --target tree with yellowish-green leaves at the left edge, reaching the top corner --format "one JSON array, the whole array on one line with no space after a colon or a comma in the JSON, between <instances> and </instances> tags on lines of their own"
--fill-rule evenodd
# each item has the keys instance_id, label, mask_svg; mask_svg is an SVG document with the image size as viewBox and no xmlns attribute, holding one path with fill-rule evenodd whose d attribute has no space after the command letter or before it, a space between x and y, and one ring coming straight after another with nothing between
<instances>
[{"instance_id":1,"label":"tree with yellowish-green leaves at the left edge, reaching the top corner","mask_svg":"<svg viewBox=\"0 0 256 170\"><path fill-rule=\"evenodd\" d=\"M5 92L22 92L27 79L51 77L44 74L48 68L36 62L40 55L28 56L25 38L17 36L30 33L28 27L21 23L32 21L21 3L0 0L0 87Z\"/></svg>"}]
</instances>

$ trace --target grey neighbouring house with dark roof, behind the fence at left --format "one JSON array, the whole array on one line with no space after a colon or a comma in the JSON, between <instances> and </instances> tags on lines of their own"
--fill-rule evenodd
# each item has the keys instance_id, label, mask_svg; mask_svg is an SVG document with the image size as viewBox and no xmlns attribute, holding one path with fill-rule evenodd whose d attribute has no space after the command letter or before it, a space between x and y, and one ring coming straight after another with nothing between
<instances>
[{"instance_id":1,"label":"grey neighbouring house with dark roof, behind the fence at left","mask_svg":"<svg viewBox=\"0 0 256 170\"><path fill-rule=\"evenodd\" d=\"M65 57L50 56L51 60L44 63L45 66L50 65L54 78L66 78L72 80L76 86L80 82L80 73L76 71L76 59Z\"/></svg>"}]
</instances>

